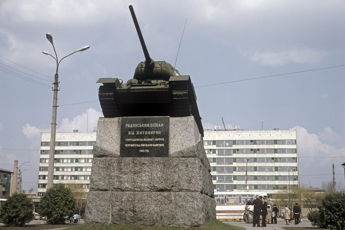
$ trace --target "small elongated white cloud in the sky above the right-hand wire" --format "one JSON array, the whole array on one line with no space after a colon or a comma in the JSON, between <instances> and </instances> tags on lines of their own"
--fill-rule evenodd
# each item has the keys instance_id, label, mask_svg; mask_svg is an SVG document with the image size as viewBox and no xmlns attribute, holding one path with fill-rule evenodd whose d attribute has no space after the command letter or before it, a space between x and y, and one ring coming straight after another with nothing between
<instances>
[{"instance_id":1,"label":"small elongated white cloud in the sky above the right-hand wire","mask_svg":"<svg viewBox=\"0 0 345 230\"><path fill-rule=\"evenodd\" d=\"M287 50L282 52L256 52L250 61L258 62L263 66L284 66L288 63L318 63L327 54L324 52L304 50Z\"/></svg>"}]
</instances>

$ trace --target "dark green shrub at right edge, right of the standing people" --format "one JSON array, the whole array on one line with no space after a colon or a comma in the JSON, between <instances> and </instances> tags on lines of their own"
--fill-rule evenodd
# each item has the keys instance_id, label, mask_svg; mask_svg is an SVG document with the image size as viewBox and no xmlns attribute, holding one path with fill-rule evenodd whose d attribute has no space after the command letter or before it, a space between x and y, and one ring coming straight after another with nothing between
<instances>
[{"instance_id":1,"label":"dark green shrub at right edge, right of the standing people","mask_svg":"<svg viewBox=\"0 0 345 230\"><path fill-rule=\"evenodd\" d=\"M319 205L320 219L331 230L345 229L345 193L330 193Z\"/></svg>"}]
</instances>

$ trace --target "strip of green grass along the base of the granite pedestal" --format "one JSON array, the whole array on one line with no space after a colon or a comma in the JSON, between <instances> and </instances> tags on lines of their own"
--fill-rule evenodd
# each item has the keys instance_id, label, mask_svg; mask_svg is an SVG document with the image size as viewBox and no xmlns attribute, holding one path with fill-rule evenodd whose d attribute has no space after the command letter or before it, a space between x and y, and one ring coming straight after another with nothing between
<instances>
[{"instance_id":1,"label":"strip of green grass along the base of the granite pedestal","mask_svg":"<svg viewBox=\"0 0 345 230\"><path fill-rule=\"evenodd\" d=\"M208 222L203 227L146 226L133 224L76 224L66 230L244 230L245 228L223 223L219 220Z\"/></svg>"}]
</instances>

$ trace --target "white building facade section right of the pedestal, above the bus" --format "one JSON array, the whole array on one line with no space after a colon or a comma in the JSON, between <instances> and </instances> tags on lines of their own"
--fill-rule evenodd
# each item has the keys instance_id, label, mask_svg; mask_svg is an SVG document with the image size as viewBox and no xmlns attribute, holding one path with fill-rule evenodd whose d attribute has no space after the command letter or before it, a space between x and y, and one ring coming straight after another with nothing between
<instances>
[{"instance_id":1,"label":"white building facade section right of the pedestal, above the bus","mask_svg":"<svg viewBox=\"0 0 345 230\"><path fill-rule=\"evenodd\" d=\"M204 130L204 148L215 191L260 190L270 196L298 186L296 130Z\"/></svg>"}]
</instances>

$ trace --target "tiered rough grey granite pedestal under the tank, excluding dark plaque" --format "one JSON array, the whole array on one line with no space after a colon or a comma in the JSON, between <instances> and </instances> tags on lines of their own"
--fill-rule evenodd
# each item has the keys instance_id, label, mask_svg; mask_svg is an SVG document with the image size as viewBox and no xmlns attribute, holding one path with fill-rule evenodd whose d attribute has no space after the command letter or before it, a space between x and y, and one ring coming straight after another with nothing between
<instances>
[{"instance_id":1,"label":"tiered rough grey granite pedestal under the tank, excluding dark plaque","mask_svg":"<svg viewBox=\"0 0 345 230\"><path fill-rule=\"evenodd\" d=\"M120 157L122 118L99 118L86 223L203 226L216 219L194 117L169 118L168 157Z\"/></svg>"}]
</instances>

